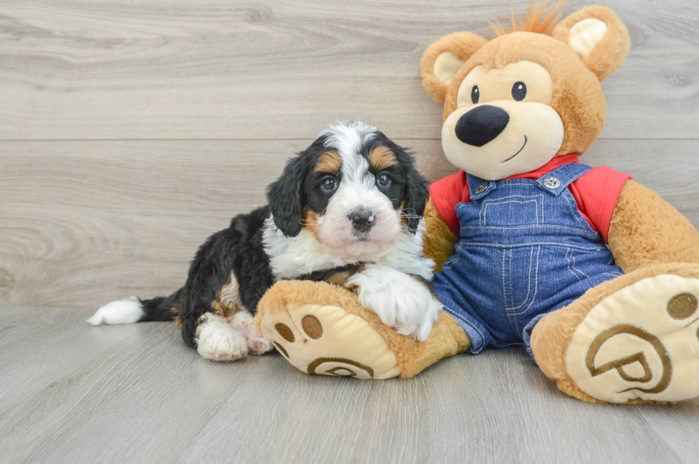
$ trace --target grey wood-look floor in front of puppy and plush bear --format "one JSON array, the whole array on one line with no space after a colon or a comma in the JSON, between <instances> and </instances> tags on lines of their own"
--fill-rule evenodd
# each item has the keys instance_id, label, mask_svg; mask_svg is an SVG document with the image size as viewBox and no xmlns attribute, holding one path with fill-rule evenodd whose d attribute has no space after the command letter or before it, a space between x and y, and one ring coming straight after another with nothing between
<instances>
[{"instance_id":1,"label":"grey wood-look floor in front of puppy and plush bear","mask_svg":"<svg viewBox=\"0 0 699 464\"><path fill-rule=\"evenodd\" d=\"M581 403L524 350L352 380L277 354L213 363L173 324L91 327L89 314L11 308L0 322L3 463L655 464L699 452L699 401Z\"/></svg>"}]
</instances>

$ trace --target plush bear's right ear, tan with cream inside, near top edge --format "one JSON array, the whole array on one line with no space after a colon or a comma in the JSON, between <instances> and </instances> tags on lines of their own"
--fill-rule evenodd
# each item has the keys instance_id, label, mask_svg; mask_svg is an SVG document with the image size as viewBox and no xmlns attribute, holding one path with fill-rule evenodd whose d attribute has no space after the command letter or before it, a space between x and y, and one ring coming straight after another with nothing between
<instances>
[{"instance_id":1,"label":"plush bear's right ear, tan with cream inside, near top edge","mask_svg":"<svg viewBox=\"0 0 699 464\"><path fill-rule=\"evenodd\" d=\"M600 81L621 66L631 39L621 19L606 6L586 6L553 29L553 39L568 44Z\"/></svg>"}]
</instances>

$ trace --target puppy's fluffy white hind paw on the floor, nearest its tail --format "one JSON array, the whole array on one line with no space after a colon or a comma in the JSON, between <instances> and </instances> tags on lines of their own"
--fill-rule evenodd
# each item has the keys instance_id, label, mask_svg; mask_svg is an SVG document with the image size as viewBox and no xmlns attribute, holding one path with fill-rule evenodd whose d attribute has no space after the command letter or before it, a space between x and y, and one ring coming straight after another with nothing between
<instances>
[{"instance_id":1,"label":"puppy's fluffy white hind paw on the floor, nearest its tail","mask_svg":"<svg viewBox=\"0 0 699 464\"><path fill-rule=\"evenodd\" d=\"M248 355L245 337L233 330L224 318L205 313L197 333L197 351L204 358L234 361Z\"/></svg>"}]
</instances>

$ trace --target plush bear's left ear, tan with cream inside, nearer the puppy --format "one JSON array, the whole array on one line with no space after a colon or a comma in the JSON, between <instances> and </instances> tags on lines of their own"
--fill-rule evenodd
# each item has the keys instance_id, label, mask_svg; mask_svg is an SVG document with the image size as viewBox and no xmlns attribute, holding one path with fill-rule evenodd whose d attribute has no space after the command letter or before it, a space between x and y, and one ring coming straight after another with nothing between
<instances>
[{"instance_id":1,"label":"plush bear's left ear, tan with cream inside, nearer the puppy","mask_svg":"<svg viewBox=\"0 0 699 464\"><path fill-rule=\"evenodd\" d=\"M427 47L420 60L422 85L432 99L444 103L447 87L461 66L488 41L471 32L456 32Z\"/></svg>"}]
</instances>

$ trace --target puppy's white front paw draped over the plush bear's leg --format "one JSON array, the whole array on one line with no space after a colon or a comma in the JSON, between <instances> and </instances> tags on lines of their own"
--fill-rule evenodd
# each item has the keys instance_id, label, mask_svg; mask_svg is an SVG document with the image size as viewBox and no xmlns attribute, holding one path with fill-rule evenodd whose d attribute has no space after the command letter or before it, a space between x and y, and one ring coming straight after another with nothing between
<instances>
[{"instance_id":1,"label":"puppy's white front paw draped over the plush bear's leg","mask_svg":"<svg viewBox=\"0 0 699 464\"><path fill-rule=\"evenodd\" d=\"M442 303L422 283L387 266L371 264L349 283L359 287L359 303L384 324L419 341L427 339L442 311Z\"/></svg>"}]
</instances>

